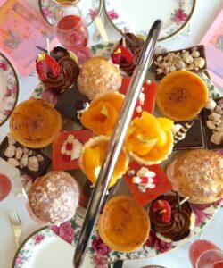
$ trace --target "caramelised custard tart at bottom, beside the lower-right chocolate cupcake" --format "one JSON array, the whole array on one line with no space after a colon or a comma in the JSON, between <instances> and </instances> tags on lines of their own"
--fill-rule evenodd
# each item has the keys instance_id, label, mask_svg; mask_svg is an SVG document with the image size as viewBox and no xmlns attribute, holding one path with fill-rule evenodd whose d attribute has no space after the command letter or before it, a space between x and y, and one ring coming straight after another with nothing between
<instances>
[{"instance_id":1,"label":"caramelised custard tart at bottom, beside the lower-right chocolate cupcake","mask_svg":"<svg viewBox=\"0 0 223 268\"><path fill-rule=\"evenodd\" d=\"M144 245L150 231L149 216L134 197L112 197L98 218L103 242L111 249L131 252Z\"/></svg>"}]
</instances>

